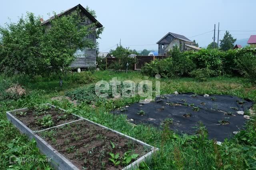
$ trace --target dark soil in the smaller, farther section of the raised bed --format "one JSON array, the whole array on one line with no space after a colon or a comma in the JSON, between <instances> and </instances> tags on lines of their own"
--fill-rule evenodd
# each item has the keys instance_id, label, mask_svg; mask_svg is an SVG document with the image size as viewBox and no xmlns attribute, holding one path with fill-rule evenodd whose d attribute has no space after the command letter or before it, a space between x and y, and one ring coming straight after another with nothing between
<instances>
[{"instance_id":1,"label":"dark soil in the smaller, farther section of the raised bed","mask_svg":"<svg viewBox=\"0 0 256 170\"><path fill-rule=\"evenodd\" d=\"M64 119L60 119L60 117L66 115L66 112L53 107L51 107L46 111L40 111L40 112L35 111L33 109L26 109L22 112L24 113L26 112L26 115L19 115L18 113L20 113L20 111L15 112L14 115L32 131L40 131L42 129L49 128L49 127L43 127L42 125L40 125L40 123L38 123L38 120L42 119L46 115L52 116L52 121L54 123L51 127L62 125L64 123L68 123L68 122L79 119L77 116L74 116L72 114L68 114Z\"/></svg>"}]
</instances>

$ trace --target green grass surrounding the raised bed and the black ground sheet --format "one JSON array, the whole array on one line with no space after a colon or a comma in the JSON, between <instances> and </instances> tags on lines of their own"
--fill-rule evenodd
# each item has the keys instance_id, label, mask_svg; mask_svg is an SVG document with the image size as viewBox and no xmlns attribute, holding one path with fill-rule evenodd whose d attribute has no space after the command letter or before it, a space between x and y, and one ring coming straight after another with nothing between
<instances>
[{"instance_id":1,"label":"green grass surrounding the raised bed and the black ground sheet","mask_svg":"<svg viewBox=\"0 0 256 170\"><path fill-rule=\"evenodd\" d=\"M113 77L118 80L133 80L138 83L141 80L152 80L155 78L144 76L139 72L98 71L94 72L95 84L98 80L110 81ZM0 76L0 86L3 84ZM70 104L68 100L51 100L53 96L63 95L66 91L80 86L71 81L71 75L64 78L64 85L59 87L58 79L12 77L14 82L22 84L28 94L17 100L0 101L0 169L45 169L49 165L42 161L44 156L40 155L33 141L28 141L24 135L6 121L5 112L33 104L51 103L63 109L70 109L74 113L88 118L92 121L113 127L113 115L108 113L113 102L116 107L125 106L138 102L140 97L120 98L118 100L106 101L98 107L93 108L88 104L81 103L78 106ZM160 79L161 94L170 94L174 91L181 93L194 92L197 94L226 94L240 98L250 99L256 102L256 88L250 82L240 77L215 77L206 82L197 82L194 78ZM2 83L2 84L1 84ZM254 107L255 108L255 107ZM256 166L256 121L255 117L247 123L247 130L240 132L232 140L226 140L222 146L216 145L213 140L207 140L206 134L200 135L177 135L168 128L157 129L150 125L133 126L127 122L125 115L115 117L114 129L131 137L144 141L150 145L160 148L159 152L147 162L151 169L245 169ZM24 157L26 162L9 164L9 156L16 155ZM36 161L33 161L33 158Z\"/></svg>"}]
</instances>

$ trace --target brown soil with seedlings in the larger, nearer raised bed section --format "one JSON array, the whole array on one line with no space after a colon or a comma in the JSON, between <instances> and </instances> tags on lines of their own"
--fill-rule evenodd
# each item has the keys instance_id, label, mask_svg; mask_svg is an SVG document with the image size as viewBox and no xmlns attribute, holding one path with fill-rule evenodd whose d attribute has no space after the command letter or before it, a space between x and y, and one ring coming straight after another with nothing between
<instances>
[{"instance_id":1,"label":"brown soil with seedlings in the larger, nearer raised bed section","mask_svg":"<svg viewBox=\"0 0 256 170\"><path fill-rule=\"evenodd\" d=\"M110 152L120 153L121 158L125 152L132 150L139 154L138 159L150 151L150 149L120 137L112 131L84 120L54 128L52 131L42 132L39 136L79 169L122 169L127 164L122 164L121 161L120 165L114 166L108 160ZM114 144L114 148L112 144ZM133 161L135 160L130 163Z\"/></svg>"}]
</instances>

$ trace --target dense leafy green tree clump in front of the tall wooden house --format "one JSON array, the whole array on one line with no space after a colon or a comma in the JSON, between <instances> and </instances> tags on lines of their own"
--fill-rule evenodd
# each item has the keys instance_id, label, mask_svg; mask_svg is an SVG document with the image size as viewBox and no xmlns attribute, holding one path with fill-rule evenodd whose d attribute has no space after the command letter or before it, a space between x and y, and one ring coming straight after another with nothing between
<instances>
[{"instance_id":1,"label":"dense leafy green tree clump in front of the tall wooden house","mask_svg":"<svg viewBox=\"0 0 256 170\"><path fill-rule=\"evenodd\" d=\"M18 23L1 27L1 53L4 56L0 63L1 69L33 75L55 72L61 79L61 70L68 68L74 61L77 49L95 46L91 40L84 39L92 33L95 24L81 25L84 18L78 12L62 17L54 14L50 29L41 26L40 17L32 13L21 17Z\"/></svg>"}]
</instances>

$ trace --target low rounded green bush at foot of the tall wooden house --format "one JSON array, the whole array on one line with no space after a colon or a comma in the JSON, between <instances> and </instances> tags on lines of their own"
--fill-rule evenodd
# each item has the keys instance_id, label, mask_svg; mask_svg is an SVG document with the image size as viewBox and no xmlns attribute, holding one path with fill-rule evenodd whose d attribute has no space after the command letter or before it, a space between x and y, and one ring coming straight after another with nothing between
<instances>
[{"instance_id":1,"label":"low rounded green bush at foot of the tall wooden house","mask_svg":"<svg viewBox=\"0 0 256 170\"><path fill-rule=\"evenodd\" d=\"M82 71L77 72L73 75L72 82L78 83L78 84L89 84L95 81L96 79L92 75L90 71Z\"/></svg>"}]
</instances>

